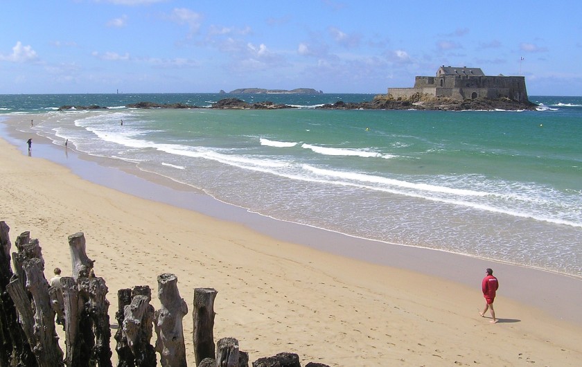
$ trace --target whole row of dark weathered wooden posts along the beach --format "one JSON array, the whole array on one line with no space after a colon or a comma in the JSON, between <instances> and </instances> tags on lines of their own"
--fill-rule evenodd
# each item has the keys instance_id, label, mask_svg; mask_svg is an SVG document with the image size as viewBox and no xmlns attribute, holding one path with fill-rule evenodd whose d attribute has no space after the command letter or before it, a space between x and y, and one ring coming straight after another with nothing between
<instances>
[{"instance_id":1,"label":"whole row of dark weathered wooden posts along the beach","mask_svg":"<svg viewBox=\"0 0 582 367\"><path fill-rule=\"evenodd\" d=\"M15 241L10 267L10 228L0 222L0 366L112 367L109 347L109 301L105 280L94 276L94 261L87 257L85 235L69 236L72 276L60 278L60 287L49 287L44 259L37 239L24 232ZM118 367L187 366L182 319L188 306L180 297L177 277L157 277L161 307L150 305L150 287L136 286L117 293L118 328L114 335ZM193 348L195 366L248 367L249 355L238 340L226 337L214 343L213 288L196 288L193 299ZM64 324L65 351L58 343L55 315ZM155 344L150 343L153 331ZM253 367L301 367L290 352L259 358ZM310 362L306 367L322 367Z\"/></svg>"}]
</instances>

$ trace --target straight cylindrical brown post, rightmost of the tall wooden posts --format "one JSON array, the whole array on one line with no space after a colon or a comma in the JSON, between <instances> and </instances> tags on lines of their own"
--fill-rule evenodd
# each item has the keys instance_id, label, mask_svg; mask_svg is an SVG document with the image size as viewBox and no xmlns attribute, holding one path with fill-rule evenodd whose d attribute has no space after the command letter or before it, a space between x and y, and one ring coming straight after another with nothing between
<instances>
[{"instance_id":1,"label":"straight cylindrical brown post, rightmost of the tall wooden posts","mask_svg":"<svg viewBox=\"0 0 582 367\"><path fill-rule=\"evenodd\" d=\"M216 359L213 329L214 299L217 293L216 289L213 288L194 289L194 310L192 313L194 330L192 334L196 365L200 364L204 358Z\"/></svg>"}]
</instances>

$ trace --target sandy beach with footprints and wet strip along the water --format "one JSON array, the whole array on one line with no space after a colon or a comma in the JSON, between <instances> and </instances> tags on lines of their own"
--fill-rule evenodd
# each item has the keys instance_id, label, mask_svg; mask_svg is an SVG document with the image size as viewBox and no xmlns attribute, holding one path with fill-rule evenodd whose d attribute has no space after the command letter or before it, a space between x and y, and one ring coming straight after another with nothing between
<instances>
[{"instance_id":1,"label":"sandy beach with footprints and wet strip along the water","mask_svg":"<svg viewBox=\"0 0 582 367\"><path fill-rule=\"evenodd\" d=\"M30 116L5 123L30 124ZM582 360L582 280L250 215L177 184L99 165L32 132L2 136L0 161L0 220L10 240L24 231L38 238L51 278L54 267L70 274L67 236L85 233L95 274L109 287L112 332L118 289L150 285L157 307L156 277L176 274L189 308L191 366L197 287L218 290L215 339L235 337L250 361L278 352L329 366ZM497 324L478 312L486 267L500 279Z\"/></svg>"}]
</instances>

